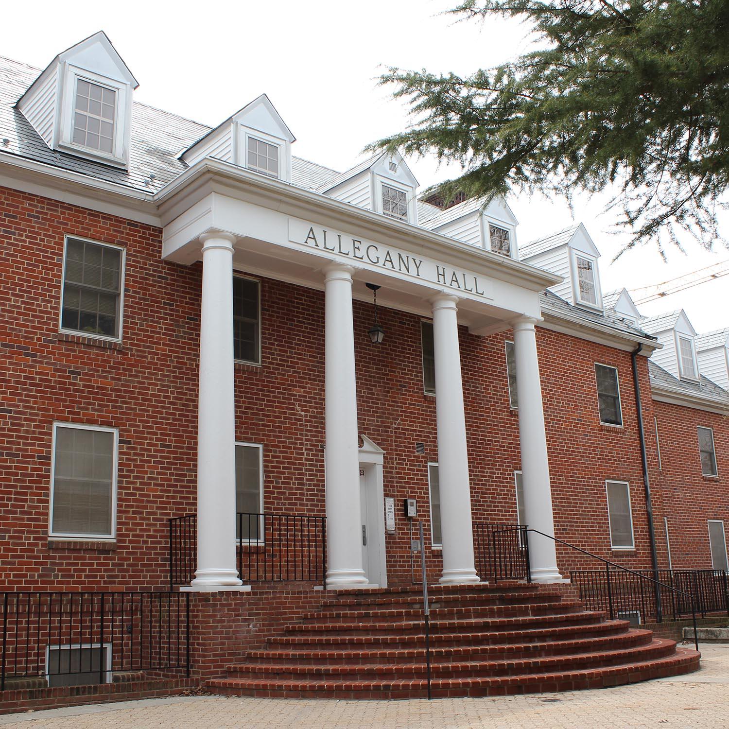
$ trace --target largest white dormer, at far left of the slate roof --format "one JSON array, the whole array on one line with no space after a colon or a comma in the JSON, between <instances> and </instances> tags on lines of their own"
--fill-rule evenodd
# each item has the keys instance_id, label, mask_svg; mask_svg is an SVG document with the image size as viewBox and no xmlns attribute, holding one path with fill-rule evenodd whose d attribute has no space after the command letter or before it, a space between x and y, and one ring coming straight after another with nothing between
<instances>
[{"instance_id":1,"label":"largest white dormer, at far left of the slate roof","mask_svg":"<svg viewBox=\"0 0 729 729\"><path fill-rule=\"evenodd\" d=\"M17 108L51 149L127 167L138 85L99 31L57 55Z\"/></svg>"}]
</instances>

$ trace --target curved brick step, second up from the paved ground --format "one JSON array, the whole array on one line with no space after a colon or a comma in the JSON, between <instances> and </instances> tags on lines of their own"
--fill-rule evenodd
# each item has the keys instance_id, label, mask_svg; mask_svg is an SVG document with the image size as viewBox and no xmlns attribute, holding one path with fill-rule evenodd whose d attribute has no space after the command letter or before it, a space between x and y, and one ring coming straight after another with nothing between
<instances>
[{"instance_id":1,"label":"curved brick step, second up from the paved ground","mask_svg":"<svg viewBox=\"0 0 729 729\"><path fill-rule=\"evenodd\" d=\"M654 658L663 658L675 652L676 641L665 638L654 638L647 645L619 648L617 650L601 650L592 653L539 656L535 658L493 658L491 660L462 660L448 663L431 664L433 677L439 674L470 673L483 676L518 672L520 674L548 673L563 668L576 669L579 666L612 666L617 663L643 663ZM297 674L305 674L316 678L320 675L351 677L362 674L399 674L410 677L412 674L426 672L425 660L416 663L338 663L307 665L299 663L235 663L225 668L227 674L257 674L259 678L290 678ZM367 677L365 675L364 677ZM442 677L442 676L440 676Z\"/></svg>"}]
</instances>

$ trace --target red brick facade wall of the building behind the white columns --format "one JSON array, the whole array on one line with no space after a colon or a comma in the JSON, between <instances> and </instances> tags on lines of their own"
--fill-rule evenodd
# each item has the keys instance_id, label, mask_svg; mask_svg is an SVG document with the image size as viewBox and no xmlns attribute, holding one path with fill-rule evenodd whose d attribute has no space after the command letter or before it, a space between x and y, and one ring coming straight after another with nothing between
<instances>
[{"instance_id":1,"label":"red brick facade wall of the building behind the white columns","mask_svg":"<svg viewBox=\"0 0 729 729\"><path fill-rule=\"evenodd\" d=\"M36 195L0 189L0 585L23 589L164 588L167 520L195 511L200 265L160 260L161 231ZM121 344L60 335L64 235L124 246ZM262 365L236 364L236 438L263 445L265 509L324 514L324 295L262 279ZM386 535L390 584L410 582L402 499L418 499L429 532L427 464L437 461L434 398L423 392L420 320L384 309L386 338L367 336L372 306L354 302L359 431L383 451L384 495L396 504ZM504 340L460 332L474 521L516 521L520 467ZM543 328L537 345L556 536L620 564L650 566L631 356ZM654 403L638 357L660 566L663 515L674 566L710 566L706 518L725 518L727 418ZM617 367L623 427L601 426L594 363ZM658 468L653 417L659 420ZM54 421L119 429L117 539L48 537ZM695 424L711 424L720 477L702 479ZM693 435L692 435L693 434ZM424 452L416 451L424 444ZM631 489L636 550L610 549L605 480ZM696 494L702 498L697 499ZM723 516L722 516L723 514ZM659 523L660 522L660 523ZM674 523L676 526L674 527ZM679 523L682 526L679 526ZM428 550L432 577L440 554ZM593 566L560 549L564 571ZM416 564L417 567L417 564Z\"/></svg>"}]
</instances>

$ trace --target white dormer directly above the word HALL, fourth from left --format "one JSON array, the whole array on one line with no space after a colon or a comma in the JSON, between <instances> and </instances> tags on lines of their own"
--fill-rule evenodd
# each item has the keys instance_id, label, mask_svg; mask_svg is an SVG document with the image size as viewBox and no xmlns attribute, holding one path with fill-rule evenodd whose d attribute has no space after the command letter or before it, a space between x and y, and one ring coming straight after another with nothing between
<instances>
[{"instance_id":1,"label":"white dormer directly above the word HALL, fourth from left","mask_svg":"<svg viewBox=\"0 0 729 729\"><path fill-rule=\"evenodd\" d=\"M519 259L516 242L519 222L502 197L488 204L484 204L483 198L464 200L425 219L422 225L472 246Z\"/></svg>"}]
</instances>

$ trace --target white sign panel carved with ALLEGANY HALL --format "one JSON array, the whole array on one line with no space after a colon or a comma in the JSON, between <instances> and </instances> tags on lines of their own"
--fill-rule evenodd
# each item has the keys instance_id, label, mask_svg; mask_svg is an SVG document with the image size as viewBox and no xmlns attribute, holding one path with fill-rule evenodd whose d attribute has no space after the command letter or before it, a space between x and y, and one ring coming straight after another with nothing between
<instances>
[{"instance_id":1,"label":"white sign panel carved with ALLEGANY HALL","mask_svg":"<svg viewBox=\"0 0 729 729\"><path fill-rule=\"evenodd\" d=\"M354 238L336 230L311 225L303 220L289 219L289 240L320 251L346 256L353 261L397 271L421 278L438 286L448 286L456 291L491 298L486 279L464 270L449 268L428 258L413 256L402 250Z\"/></svg>"}]
</instances>

